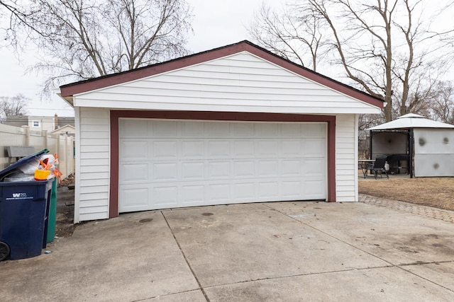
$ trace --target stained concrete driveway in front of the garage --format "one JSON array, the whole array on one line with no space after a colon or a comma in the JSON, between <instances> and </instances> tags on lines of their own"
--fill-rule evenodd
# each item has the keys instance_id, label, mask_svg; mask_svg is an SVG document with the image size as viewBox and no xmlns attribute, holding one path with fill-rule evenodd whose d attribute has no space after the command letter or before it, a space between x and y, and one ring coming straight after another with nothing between
<instances>
[{"instance_id":1,"label":"stained concrete driveway in front of the garage","mask_svg":"<svg viewBox=\"0 0 454 302\"><path fill-rule=\"evenodd\" d=\"M2 301L454 301L454 224L362 203L123 214L0 262Z\"/></svg>"}]
</instances>

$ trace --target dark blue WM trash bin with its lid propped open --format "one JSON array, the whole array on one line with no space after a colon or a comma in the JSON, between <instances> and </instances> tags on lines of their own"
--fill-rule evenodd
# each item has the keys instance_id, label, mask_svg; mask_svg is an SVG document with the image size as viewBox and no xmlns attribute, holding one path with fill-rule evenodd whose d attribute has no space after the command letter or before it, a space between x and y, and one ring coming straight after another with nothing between
<instances>
[{"instance_id":1,"label":"dark blue WM trash bin with its lid propped open","mask_svg":"<svg viewBox=\"0 0 454 302\"><path fill-rule=\"evenodd\" d=\"M35 257L46 247L53 180L4 182L18 167L44 153L48 150L0 171L0 261Z\"/></svg>"}]
</instances>

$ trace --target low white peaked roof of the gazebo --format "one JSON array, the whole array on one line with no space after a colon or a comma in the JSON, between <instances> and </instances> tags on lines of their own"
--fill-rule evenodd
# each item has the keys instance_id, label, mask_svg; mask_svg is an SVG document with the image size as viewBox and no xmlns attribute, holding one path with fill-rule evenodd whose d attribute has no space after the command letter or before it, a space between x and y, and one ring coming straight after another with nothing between
<instances>
[{"instance_id":1,"label":"low white peaked roof of the gazebo","mask_svg":"<svg viewBox=\"0 0 454 302\"><path fill-rule=\"evenodd\" d=\"M422 115L415 115L409 113L397 117L396 120L379 124L378 126L369 128L367 130L389 130L389 129L410 129L410 128L454 128L452 124L445 124L443 122L436 122L428 120Z\"/></svg>"}]
</instances>

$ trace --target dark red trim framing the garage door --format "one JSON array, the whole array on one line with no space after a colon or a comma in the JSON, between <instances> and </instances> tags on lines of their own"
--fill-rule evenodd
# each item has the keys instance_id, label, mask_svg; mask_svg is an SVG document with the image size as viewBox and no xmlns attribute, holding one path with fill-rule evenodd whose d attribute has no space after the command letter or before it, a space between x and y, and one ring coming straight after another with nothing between
<instances>
[{"instance_id":1,"label":"dark red trim framing the garage door","mask_svg":"<svg viewBox=\"0 0 454 302\"><path fill-rule=\"evenodd\" d=\"M327 122L328 202L336 202L336 117L280 113L111 110L111 180L109 218L118 216L118 120L121 117L172 120L223 120L245 122Z\"/></svg>"}]
</instances>

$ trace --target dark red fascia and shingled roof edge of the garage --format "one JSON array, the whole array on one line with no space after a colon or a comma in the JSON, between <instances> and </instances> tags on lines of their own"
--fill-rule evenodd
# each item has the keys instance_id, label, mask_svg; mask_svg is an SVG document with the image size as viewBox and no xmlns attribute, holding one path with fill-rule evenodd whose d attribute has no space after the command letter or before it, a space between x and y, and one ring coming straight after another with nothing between
<instances>
[{"instance_id":1,"label":"dark red fascia and shingled roof edge of the garage","mask_svg":"<svg viewBox=\"0 0 454 302\"><path fill-rule=\"evenodd\" d=\"M293 62L290 62L287 59L283 59L276 54L272 54L272 52L269 52L262 47L254 45L253 43L246 40L233 45L219 47L206 52L199 52L197 54L192 54L187 57L181 57L179 59L173 59L171 61L159 64L153 64L130 71L123 71L118 74L110 74L108 76L100 76L94 79L63 85L60 86L60 95L72 105L72 97L79 93L86 93L89 91L95 91L97 89L115 86L129 81L143 79L148 76L154 76L157 74L165 73L167 71L173 71L176 69L182 69L187 66L201 64L214 59L237 54L239 52L249 52L250 54L254 54L255 56L265 59L272 64L276 64L277 66L287 69L288 71L292 71L294 72L294 74L304 76L306 79L320 83L323 86L327 86L328 88L331 88L345 95L349 95L350 97L356 98L370 105L377 106L378 108L383 108L384 103L380 98L375 98L372 95L359 91L358 89L355 89L351 86L330 79L327 76L318 74L298 64L294 64Z\"/></svg>"}]
</instances>

